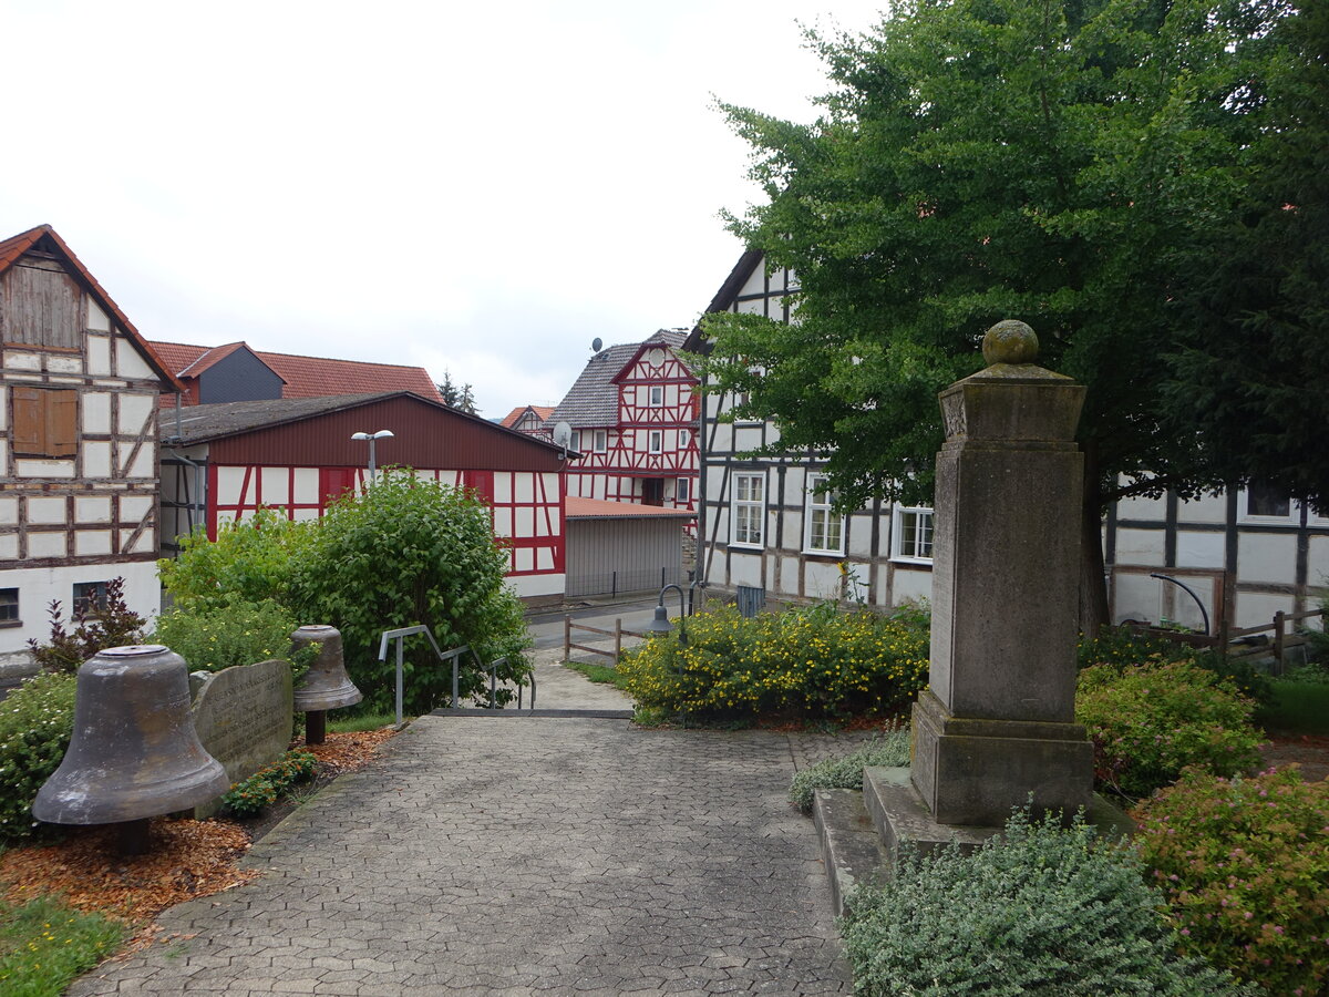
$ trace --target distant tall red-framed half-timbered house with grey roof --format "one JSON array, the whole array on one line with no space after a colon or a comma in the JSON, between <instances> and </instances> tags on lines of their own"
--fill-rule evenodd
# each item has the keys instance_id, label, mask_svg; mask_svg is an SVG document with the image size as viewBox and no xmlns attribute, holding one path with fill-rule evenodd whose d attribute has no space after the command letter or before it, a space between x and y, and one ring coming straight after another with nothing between
<instances>
[{"instance_id":1,"label":"distant tall red-framed half-timbered house with grey roof","mask_svg":"<svg viewBox=\"0 0 1329 997\"><path fill-rule=\"evenodd\" d=\"M696 510L696 378L684 334L597 352L545 423L571 427L567 495Z\"/></svg>"}]
</instances>

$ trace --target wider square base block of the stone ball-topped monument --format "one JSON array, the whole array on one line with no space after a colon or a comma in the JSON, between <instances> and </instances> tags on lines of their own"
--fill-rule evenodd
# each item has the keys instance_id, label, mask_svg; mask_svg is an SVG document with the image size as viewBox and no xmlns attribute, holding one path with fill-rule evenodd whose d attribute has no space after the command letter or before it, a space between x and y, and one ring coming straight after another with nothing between
<instances>
[{"instance_id":1,"label":"wider square base block of the stone ball-topped monument","mask_svg":"<svg viewBox=\"0 0 1329 997\"><path fill-rule=\"evenodd\" d=\"M938 824L1001 827L1011 807L1062 811L1094 796L1094 746L1078 723L952 717L929 690L913 707L912 780Z\"/></svg>"}]
</instances>

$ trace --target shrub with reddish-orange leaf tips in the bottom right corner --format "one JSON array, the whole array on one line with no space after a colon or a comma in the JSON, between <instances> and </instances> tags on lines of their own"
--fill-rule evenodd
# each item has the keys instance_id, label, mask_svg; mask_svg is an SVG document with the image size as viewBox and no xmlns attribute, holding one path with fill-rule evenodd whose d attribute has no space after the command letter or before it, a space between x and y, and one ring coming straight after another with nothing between
<instances>
[{"instance_id":1,"label":"shrub with reddish-orange leaf tips in the bottom right corner","mask_svg":"<svg viewBox=\"0 0 1329 997\"><path fill-rule=\"evenodd\" d=\"M1187 770L1132 816L1185 950L1272 993L1329 982L1329 782Z\"/></svg>"}]
</instances>

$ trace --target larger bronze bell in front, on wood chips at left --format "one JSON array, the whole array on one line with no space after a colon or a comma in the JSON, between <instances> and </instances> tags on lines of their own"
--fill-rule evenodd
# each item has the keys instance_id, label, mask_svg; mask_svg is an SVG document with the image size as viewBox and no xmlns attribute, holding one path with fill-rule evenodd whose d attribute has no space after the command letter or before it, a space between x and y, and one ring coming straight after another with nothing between
<instances>
[{"instance_id":1,"label":"larger bronze bell in front, on wood chips at left","mask_svg":"<svg viewBox=\"0 0 1329 997\"><path fill-rule=\"evenodd\" d=\"M32 815L53 824L117 824L221 796L230 780L198 742L189 706L189 669L169 647L112 647L85 661L69 750Z\"/></svg>"}]
</instances>

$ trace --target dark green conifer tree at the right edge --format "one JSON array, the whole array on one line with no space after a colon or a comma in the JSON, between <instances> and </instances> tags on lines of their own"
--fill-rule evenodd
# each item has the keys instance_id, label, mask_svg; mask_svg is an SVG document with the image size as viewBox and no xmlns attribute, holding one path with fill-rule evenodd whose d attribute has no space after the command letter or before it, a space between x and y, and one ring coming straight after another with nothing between
<instances>
[{"instance_id":1,"label":"dark green conifer tree at the right edge","mask_svg":"<svg viewBox=\"0 0 1329 997\"><path fill-rule=\"evenodd\" d=\"M1191 259L1170 416L1224 476L1329 509L1329 4L1271 41L1251 182Z\"/></svg>"}]
</instances>

